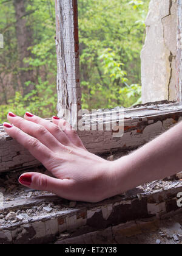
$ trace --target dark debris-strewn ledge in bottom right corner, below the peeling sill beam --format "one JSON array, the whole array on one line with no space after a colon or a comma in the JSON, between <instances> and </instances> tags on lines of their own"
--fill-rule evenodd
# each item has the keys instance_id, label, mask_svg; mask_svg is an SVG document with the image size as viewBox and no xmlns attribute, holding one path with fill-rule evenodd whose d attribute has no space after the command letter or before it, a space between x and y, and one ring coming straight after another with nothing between
<instances>
[{"instance_id":1,"label":"dark debris-strewn ledge in bottom right corner, below the peeling sill beam","mask_svg":"<svg viewBox=\"0 0 182 256\"><path fill-rule=\"evenodd\" d=\"M182 244L181 213L182 209L178 214L170 214L163 220L151 218L129 221L82 235L81 232L67 232L61 234L55 244L65 244L67 248L70 244L105 244L106 248L112 244L111 251L116 251L116 244ZM93 253L97 251L97 247L92 248ZM98 252L101 250L104 250L104 245L102 249L98 247Z\"/></svg>"}]
</instances>

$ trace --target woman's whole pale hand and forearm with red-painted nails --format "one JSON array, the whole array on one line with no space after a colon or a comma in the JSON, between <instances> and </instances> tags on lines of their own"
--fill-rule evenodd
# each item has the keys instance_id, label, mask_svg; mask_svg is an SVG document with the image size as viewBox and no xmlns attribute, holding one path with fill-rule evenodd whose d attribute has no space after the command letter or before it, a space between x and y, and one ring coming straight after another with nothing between
<instances>
[{"instance_id":1,"label":"woman's whole pale hand and forearm with red-painted nails","mask_svg":"<svg viewBox=\"0 0 182 256\"><path fill-rule=\"evenodd\" d=\"M99 202L143 183L181 171L182 123L114 162L86 150L68 123L53 123L26 113L8 113L5 132L42 163L53 175L22 174L19 182L35 190L49 191L72 201Z\"/></svg>"}]
</instances>

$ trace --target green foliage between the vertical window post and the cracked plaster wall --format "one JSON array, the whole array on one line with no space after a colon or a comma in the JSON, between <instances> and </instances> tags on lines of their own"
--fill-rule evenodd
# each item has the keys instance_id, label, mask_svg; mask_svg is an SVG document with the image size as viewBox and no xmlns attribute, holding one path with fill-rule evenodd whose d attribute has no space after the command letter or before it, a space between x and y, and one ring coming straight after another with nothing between
<instances>
[{"instance_id":1,"label":"green foliage between the vertical window post and the cracked plaster wall","mask_svg":"<svg viewBox=\"0 0 182 256\"><path fill-rule=\"evenodd\" d=\"M140 51L149 0L78 2L83 107L141 102Z\"/></svg>"}]
</instances>

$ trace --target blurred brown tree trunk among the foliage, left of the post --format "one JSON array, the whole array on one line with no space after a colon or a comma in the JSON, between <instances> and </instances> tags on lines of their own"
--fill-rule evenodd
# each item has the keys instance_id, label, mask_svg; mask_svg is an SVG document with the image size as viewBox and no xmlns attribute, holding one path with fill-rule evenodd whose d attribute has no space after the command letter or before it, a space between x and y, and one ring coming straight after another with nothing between
<instances>
[{"instance_id":1,"label":"blurred brown tree trunk among the foliage, left of the post","mask_svg":"<svg viewBox=\"0 0 182 256\"><path fill-rule=\"evenodd\" d=\"M15 17L16 17L16 38L19 54L19 84L22 87L23 93L28 94L35 86L33 70L30 69L29 63L24 63L24 59L31 56L28 50L32 46L33 30L27 25L25 3L27 0L14 0ZM25 82L30 81L27 86Z\"/></svg>"}]
</instances>

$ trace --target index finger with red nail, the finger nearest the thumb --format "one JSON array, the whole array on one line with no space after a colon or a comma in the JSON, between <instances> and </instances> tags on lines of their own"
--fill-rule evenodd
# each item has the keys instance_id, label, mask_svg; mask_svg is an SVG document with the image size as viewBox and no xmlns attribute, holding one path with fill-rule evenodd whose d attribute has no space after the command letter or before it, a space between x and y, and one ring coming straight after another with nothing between
<instances>
[{"instance_id":1,"label":"index finger with red nail, the finger nearest the thumb","mask_svg":"<svg viewBox=\"0 0 182 256\"><path fill-rule=\"evenodd\" d=\"M10 137L14 138L19 144L24 146L24 148L28 149L30 154L38 159L46 168L49 168L47 164L50 162L50 159L53 158L53 152L50 151L49 148L44 146L36 138L33 138L20 130L18 127L4 123L4 130Z\"/></svg>"}]
</instances>

